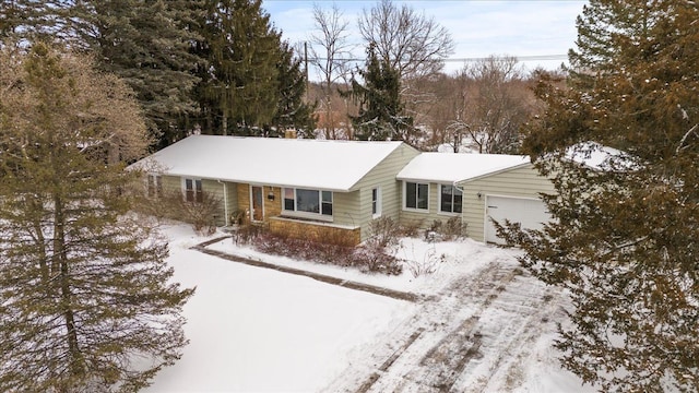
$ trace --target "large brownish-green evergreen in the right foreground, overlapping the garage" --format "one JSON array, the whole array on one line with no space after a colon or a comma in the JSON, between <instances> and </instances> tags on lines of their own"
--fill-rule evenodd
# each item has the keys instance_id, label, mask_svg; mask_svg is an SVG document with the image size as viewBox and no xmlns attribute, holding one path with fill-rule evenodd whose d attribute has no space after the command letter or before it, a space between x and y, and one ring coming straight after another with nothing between
<instances>
[{"instance_id":1,"label":"large brownish-green evergreen in the right foreground, overlapping the garage","mask_svg":"<svg viewBox=\"0 0 699 393\"><path fill-rule=\"evenodd\" d=\"M562 364L605 391L699 390L699 7L594 0L568 90L524 147L554 179L543 230L502 231L522 263L569 289ZM600 168L596 141L621 148ZM577 146L577 147L571 147Z\"/></svg>"}]
</instances>

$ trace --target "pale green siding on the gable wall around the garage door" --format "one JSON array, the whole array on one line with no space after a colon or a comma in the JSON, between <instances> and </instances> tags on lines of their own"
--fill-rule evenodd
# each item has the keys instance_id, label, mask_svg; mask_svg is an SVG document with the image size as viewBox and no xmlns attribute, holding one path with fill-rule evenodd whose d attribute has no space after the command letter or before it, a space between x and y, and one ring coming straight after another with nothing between
<instances>
[{"instance_id":1,"label":"pale green siding on the gable wall around the garage door","mask_svg":"<svg viewBox=\"0 0 699 393\"><path fill-rule=\"evenodd\" d=\"M462 219L467 225L469 237L477 241L485 241L486 195L540 198L541 193L555 193L550 180L540 176L533 165L465 181L459 186L463 188Z\"/></svg>"}]
</instances>

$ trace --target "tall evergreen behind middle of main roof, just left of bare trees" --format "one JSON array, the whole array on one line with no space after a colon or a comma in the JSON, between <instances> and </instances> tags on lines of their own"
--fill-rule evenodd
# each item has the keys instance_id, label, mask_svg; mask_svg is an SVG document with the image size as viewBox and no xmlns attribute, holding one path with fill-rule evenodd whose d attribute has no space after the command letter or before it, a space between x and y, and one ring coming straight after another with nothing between
<instances>
[{"instance_id":1,"label":"tall evergreen behind middle of main roof, just left of bare trees","mask_svg":"<svg viewBox=\"0 0 699 393\"><path fill-rule=\"evenodd\" d=\"M261 0L206 0L197 55L197 97L202 131L258 134L272 122L279 103L280 34Z\"/></svg>"}]
</instances>

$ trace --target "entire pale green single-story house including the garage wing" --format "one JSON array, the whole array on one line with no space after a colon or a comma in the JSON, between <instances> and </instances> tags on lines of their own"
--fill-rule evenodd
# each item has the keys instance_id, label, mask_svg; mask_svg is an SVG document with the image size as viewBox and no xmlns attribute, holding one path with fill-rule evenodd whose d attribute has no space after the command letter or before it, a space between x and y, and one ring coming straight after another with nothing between
<instances>
[{"instance_id":1,"label":"entire pale green single-story house including the garage wing","mask_svg":"<svg viewBox=\"0 0 699 393\"><path fill-rule=\"evenodd\" d=\"M192 135L133 165L149 184L221 201L217 225L245 211L270 230L358 243L372 219L429 227L460 217L467 235L501 242L490 217L536 228L553 193L529 157L419 153L402 142Z\"/></svg>"}]
</instances>

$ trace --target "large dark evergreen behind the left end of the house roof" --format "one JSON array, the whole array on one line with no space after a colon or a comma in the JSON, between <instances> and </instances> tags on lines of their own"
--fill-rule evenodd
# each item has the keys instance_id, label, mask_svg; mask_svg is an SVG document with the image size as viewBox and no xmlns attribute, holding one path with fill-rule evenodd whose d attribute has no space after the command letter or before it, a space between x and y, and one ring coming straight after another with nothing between
<instances>
[{"instance_id":1,"label":"large dark evergreen behind the left end of the house roof","mask_svg":"<svg viewBox=\"0 0 699 393\"><path fill-rule=\"evenodd\" d=\"M187 136L196 105L191 90L200 61L191 41L201 1L90 1L71 14L85 21L76 33L100 59L99 68L135 92L149 129L164 147ZM82 14L81 11L86 11Z\"/></svg>"}]
</instances>

